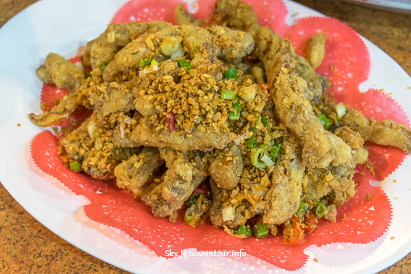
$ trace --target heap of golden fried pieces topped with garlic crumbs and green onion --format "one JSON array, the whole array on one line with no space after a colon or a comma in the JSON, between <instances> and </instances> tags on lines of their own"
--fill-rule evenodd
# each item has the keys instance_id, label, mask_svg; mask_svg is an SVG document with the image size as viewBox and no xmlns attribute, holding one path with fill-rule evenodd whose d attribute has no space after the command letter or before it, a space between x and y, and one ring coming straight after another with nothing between
<instances>
[{"instance_id":1,"label":"heap of golden fried pieces topped with garlic crumbs and green onion","mask_svg":"<svg viewBox=\"0 0 411 274\"><path fill-rule=\"evenodd\" d=\"M329 80L315 69L325 34L303 58L242 1L216 1L206 20L177 5L175 18L110 24L88 42L84 69L50 53L36 71L69 93L33 123L92 110L59 140L72 170L115 177L155 217L175 221L184 208L193 227L210 219L239 238L282 232L296 246L355 194L365 140L410 153L410 129L324 95ZM195 192L200 184L209 191Z\"/></svg>"}]
</instances>

